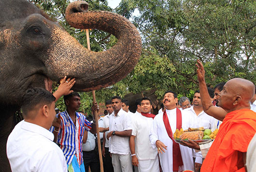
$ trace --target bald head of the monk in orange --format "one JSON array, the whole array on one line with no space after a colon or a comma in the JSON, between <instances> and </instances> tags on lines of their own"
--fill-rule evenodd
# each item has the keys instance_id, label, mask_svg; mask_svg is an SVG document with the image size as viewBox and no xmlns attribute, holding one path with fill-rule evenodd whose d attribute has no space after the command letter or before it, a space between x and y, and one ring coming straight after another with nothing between
<instances>
[{"instance_id":1,"label":"bald head of the monk in orange","mask_svg":"<svg viewBox=\"0 0 256 172\"><path fill-rule=\"evenodd\" d=\"M255 86L251 81L242 78L229 80L221 92L220 104L226 111L234 111L241 108L250 109L250 100L255 93Z\"/></svg>"}]
</instances>

